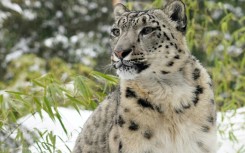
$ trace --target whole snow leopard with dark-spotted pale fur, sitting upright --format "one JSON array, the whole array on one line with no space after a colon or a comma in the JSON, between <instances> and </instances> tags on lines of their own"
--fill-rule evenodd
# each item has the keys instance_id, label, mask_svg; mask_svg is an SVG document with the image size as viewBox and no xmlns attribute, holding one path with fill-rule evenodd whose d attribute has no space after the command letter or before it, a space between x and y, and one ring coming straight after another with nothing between
<instances>
[{"instance_id":1,"label":"whole snow leopard with dark-spotted pale fur, sitting upright","mask_svg":"<svg viewBox=\"0 0 245 153\"><path fill-rule=\"evenodd\" d=\"M88 119L74 153L215 153L212 81L185 41L185 5L114 10L120 88Z\"/></svg>"}]
</instances>

